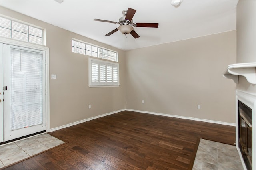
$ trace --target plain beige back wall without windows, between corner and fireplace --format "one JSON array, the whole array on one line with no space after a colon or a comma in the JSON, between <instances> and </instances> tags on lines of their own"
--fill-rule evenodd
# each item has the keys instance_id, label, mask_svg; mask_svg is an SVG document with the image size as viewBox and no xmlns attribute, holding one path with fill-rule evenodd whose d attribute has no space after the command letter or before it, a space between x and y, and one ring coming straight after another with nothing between
<instances>
[{"instance_id":1,"label":"plain beige back wall without windows, between corner and fireplace","mask_svg":"<svg viewBox=\"0 0 256 170\"><path fill-rule=\"evenodd\" d=\"M235 123L233 63L236 31L127 51L126 108Z\"/></svg>"}]
</instances>

